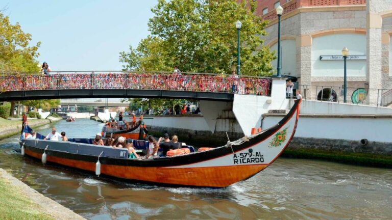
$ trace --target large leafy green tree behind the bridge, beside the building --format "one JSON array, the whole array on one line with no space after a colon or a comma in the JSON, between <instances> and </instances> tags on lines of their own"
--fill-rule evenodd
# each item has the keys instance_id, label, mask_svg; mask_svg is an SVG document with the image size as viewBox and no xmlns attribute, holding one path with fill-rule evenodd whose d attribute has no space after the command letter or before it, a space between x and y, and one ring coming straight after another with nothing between
<instances>
[{"instance_id":1,"label":"large leafy green tree behind the bridge, beside the building","mask_svg":"<svg viewBox=\"0 0 392 220\"><path fill-rule=\"evenodd\" d=\"M230 73L237 60L237 30L241 27L241 73L272 74L274 53L263 45L267 21L254 14L256 1L159 0L148 25L151 35L137 48L120 52L124 70Z\"/></svg>"}]
</instances>

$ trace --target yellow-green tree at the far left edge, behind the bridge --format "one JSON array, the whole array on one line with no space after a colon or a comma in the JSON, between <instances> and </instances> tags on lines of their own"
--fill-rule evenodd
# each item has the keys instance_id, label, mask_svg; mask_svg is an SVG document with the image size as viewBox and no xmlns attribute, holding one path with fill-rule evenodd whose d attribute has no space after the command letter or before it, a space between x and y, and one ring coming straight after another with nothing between
<instances>
[{"instance_id":1,"label":"yellow-green tree at the far left edge, behind the bridge","mask_svg":"<svg viewBox=\"0 0 392 220\"><path fill-rule=\"evenodd\" d=\"M40 42L29 46L31 35L24 33L19 23L12 25L9 17L0 12L0 73L17 74L20 72L38 72L35 60ZM10 116L14 115L15 102L11 101Z\"/></svg>"}]
</instances>

